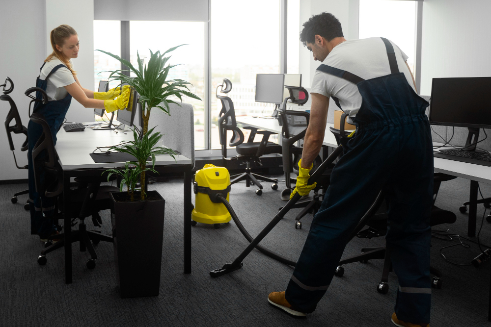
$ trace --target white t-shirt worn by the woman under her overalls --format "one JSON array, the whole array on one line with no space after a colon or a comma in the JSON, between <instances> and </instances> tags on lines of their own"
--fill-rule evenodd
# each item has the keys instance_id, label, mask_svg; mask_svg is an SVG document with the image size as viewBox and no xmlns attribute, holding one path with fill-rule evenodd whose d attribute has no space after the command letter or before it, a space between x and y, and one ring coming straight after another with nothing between
<instances>
[{"instance_id":1,"label":"white t-shirt worn by the woman under her overalls","mask_svg":"<svg viewBox=\"0 0 491 327\"><path fill-rule=\"evenodd\" d=\"M39 78L46 79L46 76L50 74L53 68L60 64L63 65L59 59L52 59L51 61L46 62L41 70ZM72 60L70 60L70 64L72 64L73 67ZM48 84L46 86L48 101L64 99L68 95L68 92L64 87L73 83L75 83L75 78L73 77L72 72L66 67L58 68L58 70L48 78Z\"/></svg>"}]
</instances>

